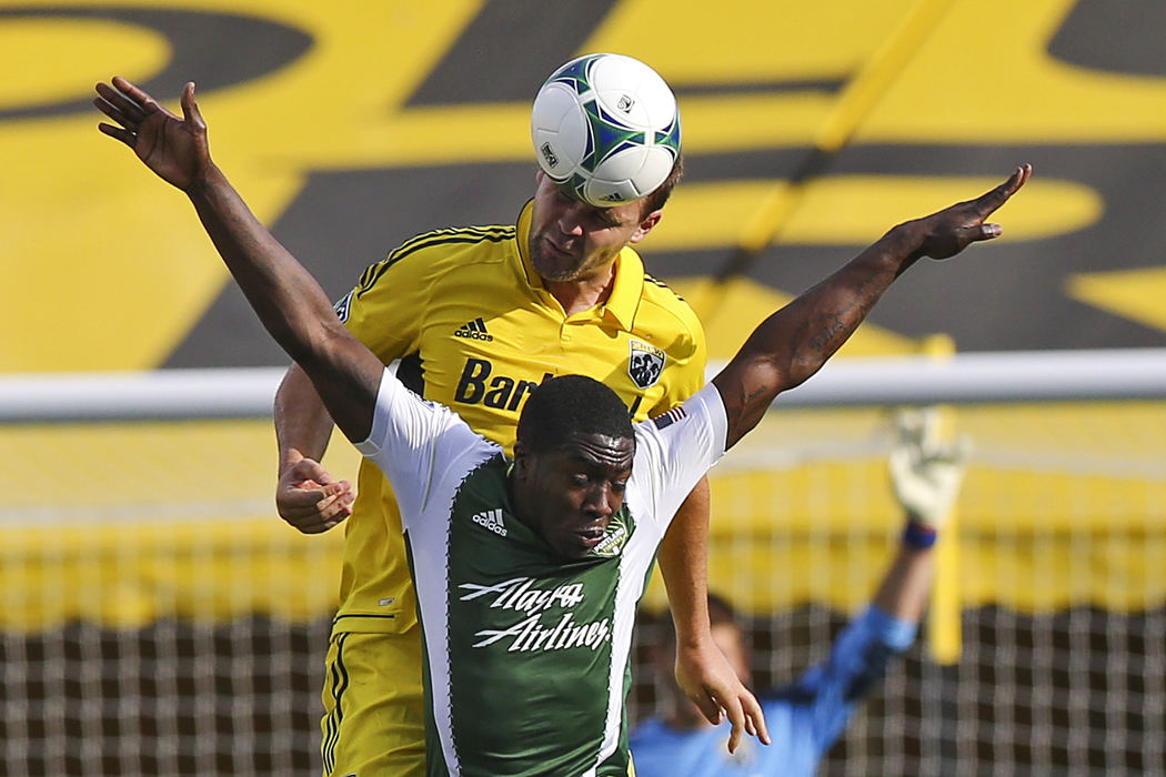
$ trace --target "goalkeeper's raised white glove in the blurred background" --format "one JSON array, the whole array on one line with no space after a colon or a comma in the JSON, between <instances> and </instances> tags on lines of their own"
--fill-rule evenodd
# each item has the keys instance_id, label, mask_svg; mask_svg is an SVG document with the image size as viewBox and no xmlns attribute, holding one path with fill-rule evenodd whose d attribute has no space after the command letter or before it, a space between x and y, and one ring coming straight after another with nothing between
<instances>
[{"instance_id":1,"label":"goalkeeper's raised white glove in the blurred background","mask_svg":"<svg viewBox=\"0 0 1166 777\"><path fill-rule=\"evenodd\" d=\"M899 412L894 425L897 440L890 458L894 496L909 520L937 531L951 515L960 493L969 440L940 444L934 408Z\"/></svg>"}]
</instances>

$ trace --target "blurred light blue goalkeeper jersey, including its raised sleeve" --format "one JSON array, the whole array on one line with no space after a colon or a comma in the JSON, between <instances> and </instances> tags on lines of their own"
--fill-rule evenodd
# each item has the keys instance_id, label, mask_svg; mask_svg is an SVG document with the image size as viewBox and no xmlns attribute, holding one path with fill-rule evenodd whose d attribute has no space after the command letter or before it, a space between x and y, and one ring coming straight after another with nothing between
<instances>
[{"instance_id":1,"label":"blurred light blue goalkeeper jersey, including its raised sleeve","mask_svg":"<svg viewBox=\"0 0 1166 777\"><path fill-rule=\"evenodd\" d=\"M632 733L638 777L812 777L888 659L915 638L915 624L869 607L838 636L830 657L785 688L759 694L768 747L744 737L729 754L730 725L694 730L651 718Z\"/></svg>"}]
</instances>

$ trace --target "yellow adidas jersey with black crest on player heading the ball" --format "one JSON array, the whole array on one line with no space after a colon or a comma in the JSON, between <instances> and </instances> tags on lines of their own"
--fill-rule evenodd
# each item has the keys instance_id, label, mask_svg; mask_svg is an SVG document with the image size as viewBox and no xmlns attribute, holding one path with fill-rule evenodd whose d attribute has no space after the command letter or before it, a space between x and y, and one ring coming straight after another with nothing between
<instances>
[{"instance_id":1,"label":"yellow adidas jersey with black crest on player heading the ball","mask_svg":"<svg viewBox=\"0 0 1166 777\"><path fill-rule=\"evenodd\" d=\"M680 404L704 384L695 313L624 248L606 305L567 317L531 266L532 206L517 227L438 229L373 264L339 303L349 330L426 398L514 444L519 409L545 377L590 375L633 419ZM401 520L368 461L346 522L338 631L405 631L416 622Z\"/></svg>"}]
</instances>

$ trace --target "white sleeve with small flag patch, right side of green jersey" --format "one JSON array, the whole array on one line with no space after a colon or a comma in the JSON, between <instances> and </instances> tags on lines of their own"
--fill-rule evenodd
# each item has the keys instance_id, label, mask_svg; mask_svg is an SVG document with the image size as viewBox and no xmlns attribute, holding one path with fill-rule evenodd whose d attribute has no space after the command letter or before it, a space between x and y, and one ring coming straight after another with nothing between
<instances>
[{"instance_id":1,"label":"white sleeve with small flag patch, right side of green jersey","mask_svg":"<svg viewBox=\"0 0 1166 777\"><path fill-rule=\"evenodd\" d=\"M635 424L632 478L663 524L725 452L729 419L711 383L684 404Z\"/></svg>"}]
</instances>

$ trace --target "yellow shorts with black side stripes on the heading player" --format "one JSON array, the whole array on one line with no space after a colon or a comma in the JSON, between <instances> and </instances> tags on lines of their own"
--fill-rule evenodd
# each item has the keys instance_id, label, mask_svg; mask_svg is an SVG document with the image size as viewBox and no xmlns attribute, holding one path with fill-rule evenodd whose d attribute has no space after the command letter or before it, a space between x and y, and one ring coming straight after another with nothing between
<instances>
[{"instance_id":1,"label":"yellow shorts with black side stripes on the heading player","mask_svg":"<svg viewBox=\"0 0 1166 777\"><path fill-rule=\"evenodd\" d=\"M324 777L423 777L421 629L333 633L325 671Z\"/></svg>"}]
</instances>

